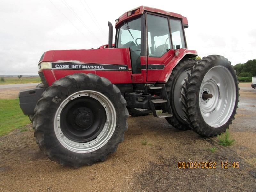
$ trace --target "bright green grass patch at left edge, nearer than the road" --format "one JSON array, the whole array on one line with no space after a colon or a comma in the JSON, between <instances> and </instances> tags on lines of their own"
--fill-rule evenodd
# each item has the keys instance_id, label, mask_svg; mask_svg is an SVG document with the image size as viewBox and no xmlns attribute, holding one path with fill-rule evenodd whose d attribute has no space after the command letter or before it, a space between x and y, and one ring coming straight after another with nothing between
<instances>
[{"instance_id":1,"label":"bright green grass patch at left edge, nearer than the road","mask_svg":"<svg viewBox=\"0 0 256 192\"><path fill-rule=\"evenodd\" d=\"M0 100L0 136L8 134L14 129L23 128L29 123L28 116L25 116L20 109L19 99Z\"/></svg>"}]
</instances>

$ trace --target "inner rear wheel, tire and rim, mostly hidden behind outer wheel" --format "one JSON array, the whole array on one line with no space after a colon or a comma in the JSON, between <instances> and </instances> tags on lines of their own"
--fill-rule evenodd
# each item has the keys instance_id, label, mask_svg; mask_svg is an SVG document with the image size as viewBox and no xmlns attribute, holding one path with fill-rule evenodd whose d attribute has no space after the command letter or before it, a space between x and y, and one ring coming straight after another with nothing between
<instances>
[{"instance_id":1,"label":"inner rear wheel, tire and rim, mostly hidden behind outer wheel","mask_svg":"<svg viewBox=\"0 0 256 192\"><path fill-rule=\"evenodd\" d=\"M196 64L194 59L184 59L181 60L175 68L172 70L171 76L168 82L165 84L166 91L168 92L170 105L172 108L172 117L165 118L169 124L171 124L176 129L189 130L190 123L186 119L186 114L182 110L182 87L185 83L184 79L190 73L191 67Z\"/></svg>"}]
</instances>

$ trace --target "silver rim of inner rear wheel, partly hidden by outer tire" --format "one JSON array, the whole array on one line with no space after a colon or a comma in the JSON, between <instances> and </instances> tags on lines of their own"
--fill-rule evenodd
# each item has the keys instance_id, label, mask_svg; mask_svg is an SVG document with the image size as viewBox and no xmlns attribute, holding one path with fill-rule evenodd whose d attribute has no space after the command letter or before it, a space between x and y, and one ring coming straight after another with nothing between
<instances>
[{"instance_id":1,"label":"silver rim of inner rear wheel, partly hidden by outer tire","mask_svg":"<svg viewBox=\"0 0 256 192\"><path fill-rule=\"evenodd\" d=\"M181 119L184 121L187 121L185 118L185 113L182 110L183 104L181 102L181 93L185 94L184 90L182 89L183 84L185 83L185 79L188 77L187 73L190 73L191 70L187 69L184 72L180 74L178 77L176 84L174 86L174 94L173 94L173 100L174 100L174 108Z\"/></svg>"}]
</instances>

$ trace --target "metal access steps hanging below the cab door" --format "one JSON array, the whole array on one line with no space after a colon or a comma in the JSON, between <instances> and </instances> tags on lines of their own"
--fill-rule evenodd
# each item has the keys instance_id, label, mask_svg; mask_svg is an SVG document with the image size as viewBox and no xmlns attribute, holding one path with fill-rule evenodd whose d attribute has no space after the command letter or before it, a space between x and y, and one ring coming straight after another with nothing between
<instances>
[{"instance_id":1,"label":"metal access steps hanging below the cab door","mask_svg":"<svg viewBox=\"0 0 256 192\"><path fill-rule=\"evenodd\" d=\"M148 87L148 92L158 91L161 92L161 96L152 96L149 104L154 117L167 118L172 117L172 109L169 102L169 98L164 84L155 84L155 86ZM164 113L156 113L157 110L162 109Z\"/></svg>"}]
</instances>

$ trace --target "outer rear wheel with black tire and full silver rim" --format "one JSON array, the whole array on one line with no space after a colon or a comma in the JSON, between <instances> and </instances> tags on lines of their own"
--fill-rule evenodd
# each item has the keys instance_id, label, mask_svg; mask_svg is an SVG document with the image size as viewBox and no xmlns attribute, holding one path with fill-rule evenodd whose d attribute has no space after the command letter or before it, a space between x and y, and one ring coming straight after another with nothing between
<instances>
[{"instance_id":1,"label":"outer rear wheel with black tire and full silver rim","mask_svg":"<svg viewBox=\"0 0 256 192\"><path fill-rule=\"evenodd\" d=\"M184 107L193 130L206 137L225 132L235 119L239 101L231 62L220 55L204 57L192 68L184 90Z\"/></svg>"}]
</instances>

